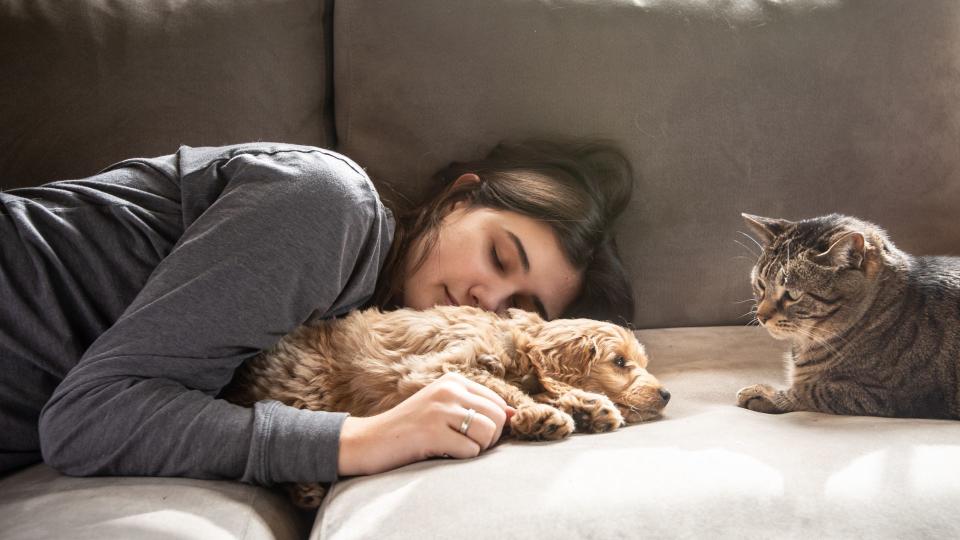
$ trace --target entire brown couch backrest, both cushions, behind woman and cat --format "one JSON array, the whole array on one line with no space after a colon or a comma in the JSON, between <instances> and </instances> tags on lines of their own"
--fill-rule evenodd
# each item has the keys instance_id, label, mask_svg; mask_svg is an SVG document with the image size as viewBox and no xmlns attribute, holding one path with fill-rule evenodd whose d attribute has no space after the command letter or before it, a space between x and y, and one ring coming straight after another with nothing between
<instances>
[{"instance_id":1,"label":"entire brown couch backrest, both cushions, behind woman and cat","mask_svg":"<svg viewBox=\"0 0 960 540\"><path fill-rule=\"evenodd\" d=\"M955 0L9 0L0 76L0 189L275 140L418 197L502 139L613 139L640 327L748 321L744 211L960 254Z\"/></svg>"}]
</instances>

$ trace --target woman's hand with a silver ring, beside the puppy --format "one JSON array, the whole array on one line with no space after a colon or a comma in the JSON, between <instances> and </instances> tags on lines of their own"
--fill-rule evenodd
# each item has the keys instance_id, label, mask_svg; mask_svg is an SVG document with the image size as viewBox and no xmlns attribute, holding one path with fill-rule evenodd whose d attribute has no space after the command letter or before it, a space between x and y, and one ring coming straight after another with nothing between
<instances>
[{"instance_id":1,"label":"woman's hand with a silver ring, beside the puppy","mask_svg":"<svg viewBox=\"0 0 960 540\"><path fill-rule=\"evenodd\" d=\"M476 414L461 434L469 409ZM389 411L348 417L340 431L338 472L375 474L430 457L475 457L500 439L514 412L489 388L447 373Z\"/></svg>"}]
</instances>

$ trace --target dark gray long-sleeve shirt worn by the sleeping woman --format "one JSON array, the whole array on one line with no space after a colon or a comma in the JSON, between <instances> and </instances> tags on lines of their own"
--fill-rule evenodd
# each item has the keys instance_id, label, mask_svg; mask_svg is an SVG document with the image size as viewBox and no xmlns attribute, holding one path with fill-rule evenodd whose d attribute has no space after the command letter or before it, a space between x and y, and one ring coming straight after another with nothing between
<instances>
[{"instance_id":1,"label":"dark gray long-sleeve shirt worn by the sleeping woman","mask_svg":"<svg viewBox=\"0 0 960 540\"><path fill-rule=\"evenodd\" d=\"M344 414L215 396L372 294L394 225L356 164L183 147L0 202L0 473L336 478Z\"/></svg>"}]
</instances>

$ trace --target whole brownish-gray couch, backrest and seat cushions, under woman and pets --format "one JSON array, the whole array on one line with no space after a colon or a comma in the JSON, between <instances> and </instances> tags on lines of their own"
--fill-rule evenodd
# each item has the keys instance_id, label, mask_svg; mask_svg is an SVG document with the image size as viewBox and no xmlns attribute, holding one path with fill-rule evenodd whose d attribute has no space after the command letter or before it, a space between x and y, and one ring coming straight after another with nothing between
<instances>
[{"instance_id":1,"label":"whole brownish-gray couch, backrest and seat cushions, under woman and pets","mask_svg":"<svg viewBox=\"0 0 960 540\"><path fill-rule=\"evenodd\" d=\"M740 213L960 255L954 0L2 0L0 189L178 145L336 149L384 196L502 139L610 139L660 420L343 479L0 478L2 538L957 538L960 423L764 415ZM746 302L745 302L746 301Z\"/></svg>"}]
</instances>

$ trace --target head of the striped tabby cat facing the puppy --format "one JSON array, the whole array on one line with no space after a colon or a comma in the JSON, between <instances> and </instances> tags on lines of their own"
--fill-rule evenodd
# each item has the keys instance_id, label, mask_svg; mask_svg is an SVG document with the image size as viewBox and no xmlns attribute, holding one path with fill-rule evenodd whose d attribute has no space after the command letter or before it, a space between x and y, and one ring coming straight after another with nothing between
<instances>
[{"instance_id":1,"label":"head of the striped tabby cat facing the puppy","mask_svg":"<svg viewBox=\"0 0 960 540\"><path fill-rule=\"evenodd\" d=\"M743 218L763 246L750 280L756 319L770 335L822 343L863 315L893 248L883 230L839 214Z\"/></svg>"}]
</instances>

